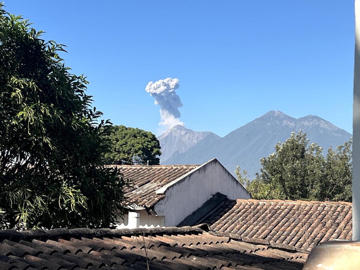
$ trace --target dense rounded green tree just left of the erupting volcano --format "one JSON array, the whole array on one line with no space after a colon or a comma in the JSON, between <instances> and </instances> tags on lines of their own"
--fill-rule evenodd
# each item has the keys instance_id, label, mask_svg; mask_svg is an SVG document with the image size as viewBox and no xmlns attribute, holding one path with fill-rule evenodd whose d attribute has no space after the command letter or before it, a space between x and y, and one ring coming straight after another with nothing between
<instances>
[{"instance_id":1,"label":"dense rounded green tree just left of the erupting volcano","mask_svg":"<svg viewBox=\"0 0 360 270\"><path fill-rule=\"evenodd\" d=\"M142 164L159 165L161 147L154 134L142 129L112 126L109 139L112 143L110 152L105 153L108 164L132 165Z\"/></svg>"}]
</instances>

